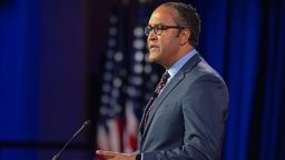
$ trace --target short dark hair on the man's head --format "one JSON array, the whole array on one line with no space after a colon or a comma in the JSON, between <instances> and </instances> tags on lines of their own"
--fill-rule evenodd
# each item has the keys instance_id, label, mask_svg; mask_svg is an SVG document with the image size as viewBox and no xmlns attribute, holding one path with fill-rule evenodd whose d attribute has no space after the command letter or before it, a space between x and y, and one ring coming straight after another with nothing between
<instances>
[{"instance_id":1,"label":"short dark hair on the man's head","mask_svg":"<svg viewBox=\"0 0 285 160\"><path fill-rule=\"evenodd\" d=\"M161 4L164 7L173 8L177 11L175 21L178 26L190 30L191 34L188 42L195 48L198 46L199 33L200 33L200 17L191 4L185 4L180 2L166 2Z\"/></svg>"}]
</instances>

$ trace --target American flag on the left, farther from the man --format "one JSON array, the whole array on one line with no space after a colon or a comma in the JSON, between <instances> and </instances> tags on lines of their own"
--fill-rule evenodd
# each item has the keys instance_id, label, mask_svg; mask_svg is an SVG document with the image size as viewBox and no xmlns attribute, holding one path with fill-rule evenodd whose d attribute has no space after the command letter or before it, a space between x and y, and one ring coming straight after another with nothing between
<instances>
[{"instance_id":1,"label":"American flag on the left, farther from the man","mask_svg":"<svg viewBox=\"0 0 285 160\"><path fill-rule=\"evenodd\" d=\"M109 18L108 50L101 87L97 147L102 150L121 151L124 130L124 82L126 62L119 8L114 6Z\"/></svg>"}]
</instances>

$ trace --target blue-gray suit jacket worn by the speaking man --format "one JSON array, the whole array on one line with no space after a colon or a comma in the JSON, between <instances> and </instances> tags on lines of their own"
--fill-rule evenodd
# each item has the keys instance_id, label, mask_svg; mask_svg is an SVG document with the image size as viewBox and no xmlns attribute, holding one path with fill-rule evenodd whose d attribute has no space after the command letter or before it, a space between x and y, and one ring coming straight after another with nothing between
<instances>
[{"instance_id":1,"label":"blue-gray suit jacket worn by the speaking man","mask_svg":"<svg viewBox=\"0 0 285 160\"><path fill-rule=\"evenodd\" d=\"M197 53L157 97L138 152L144 160L222 159L227 109L224 80Z\"/></svg>"}]
</instances>

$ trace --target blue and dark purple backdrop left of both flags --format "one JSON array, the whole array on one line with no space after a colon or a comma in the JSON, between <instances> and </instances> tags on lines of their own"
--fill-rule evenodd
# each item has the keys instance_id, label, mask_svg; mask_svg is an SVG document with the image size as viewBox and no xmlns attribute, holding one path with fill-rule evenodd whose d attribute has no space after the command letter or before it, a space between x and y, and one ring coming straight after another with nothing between
<instances>
[{"instance_id":1,"label":"blue and dark purple backdrop left of both flags","mask_svg":"<svg viewBox=\"0 0 285 160\"><path fill-rule=\"evenodd\" d=\"M87 119L83 13L77 0L0 0L0 160L51 159ZM86 141L62 159L90 157Z\"/></svg>"}]
</instances>

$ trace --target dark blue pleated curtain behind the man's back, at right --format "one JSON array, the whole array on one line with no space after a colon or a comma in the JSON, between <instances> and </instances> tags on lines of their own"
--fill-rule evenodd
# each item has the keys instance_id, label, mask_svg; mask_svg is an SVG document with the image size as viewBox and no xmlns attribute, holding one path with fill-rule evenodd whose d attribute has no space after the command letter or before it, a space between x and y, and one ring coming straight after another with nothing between
<instances>
[{"instance_id":1,"label":"dark blue pleated curtain behind the man's back, at right","mask_svg":"<svg viewBox=\"0 0 285 160\"><path fill-rule=\"evenodd\" d=\"M285 1L197 1L197 8L199 50L229 88L224 159L284 159Z\"/></svg>"}]
</instances>

